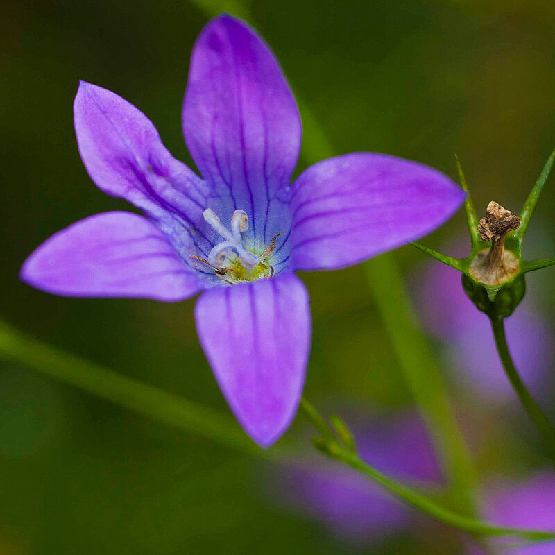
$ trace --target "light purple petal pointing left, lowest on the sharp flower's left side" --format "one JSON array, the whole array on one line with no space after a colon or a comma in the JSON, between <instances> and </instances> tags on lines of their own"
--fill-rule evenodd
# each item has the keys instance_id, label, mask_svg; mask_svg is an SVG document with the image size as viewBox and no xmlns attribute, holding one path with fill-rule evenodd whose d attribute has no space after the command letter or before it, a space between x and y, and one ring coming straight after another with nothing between
<instances>
[{"instance_id":1,"label":"light purple petal pointing left, lowest on the sharp flower's left side","mask_svg":"<svg viewBox=\"0 0 555 555\"><path fill-rule=\"evenodd\" d=\"M96 214L54 234L26 259L20 277L69 297L175 301L201 289L167 236L130 212Z\"/></svg>"}]
</instances>

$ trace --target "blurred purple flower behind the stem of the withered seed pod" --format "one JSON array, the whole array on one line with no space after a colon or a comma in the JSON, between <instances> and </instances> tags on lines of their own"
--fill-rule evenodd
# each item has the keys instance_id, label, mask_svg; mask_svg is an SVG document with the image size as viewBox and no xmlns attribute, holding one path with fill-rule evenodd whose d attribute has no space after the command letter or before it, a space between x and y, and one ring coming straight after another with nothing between
<instances>
[{"instance_id":1,"label":"blurred purple flower behind the stem of the withered seed pod","mask_svg":"<svg viewBox=\"0 0 555 555\"><path fill-rule=\"evenodd\" d=\"M463 256L464 248L447 247L447 252ZM489 399L516 400L499 361L488 318L464 293L461 274L445 264L429 262L413 280L411 289L422 325L441 342L457 377ZM552 327L533 308L530 295L506 318L505 325L522 379L531 389L541 392L549 379L554 355Z\"/></svg>"}]
</instances>

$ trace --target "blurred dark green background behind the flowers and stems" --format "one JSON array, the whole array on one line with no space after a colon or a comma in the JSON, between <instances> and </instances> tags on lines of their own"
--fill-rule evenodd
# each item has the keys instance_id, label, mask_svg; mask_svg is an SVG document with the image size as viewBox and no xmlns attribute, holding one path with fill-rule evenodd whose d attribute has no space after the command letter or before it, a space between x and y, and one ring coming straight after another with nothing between
<instances>
[{"instance_id":1,"label":"blurred dark green background behind the flowers and stems","mask_svg":"<svg viewBox=\"0 0 555 555\"><path fill-rule=\"evenodd\" d=\"M191 164L180 108L206 16L186 0L4 0L0 10L0 314L53 345L227 412L198 345L194 300L67 299L17 279L53 232L128 209L96 189L80 162L71 111L78 79L137 105ZM255 0L250 10L337 153L391 153L452 177L457 153L479 212L490 200L518 210L555 146L552 0ZM528 257L555 252L554 203L548 185ZM439 246L463 226L459 213L426 242ZM427 264L409 247L396 255L407 277ZM547 272L528 284L549 316ZM314 317L309 398L331 408L334 400L409 407L361 268L301 277ZM471 395L452 394L488 437L473 452L484 475L537 463L533 433L530 445L511 443L496 432L494 409L477 411ZM522 440L529 427L520 407L505 417ZM266 464L17 365L0 368L1 555L351 553L268 495ZM400 534L368 553L456 554L454 537Z\"/></svg>"}]
</instances>

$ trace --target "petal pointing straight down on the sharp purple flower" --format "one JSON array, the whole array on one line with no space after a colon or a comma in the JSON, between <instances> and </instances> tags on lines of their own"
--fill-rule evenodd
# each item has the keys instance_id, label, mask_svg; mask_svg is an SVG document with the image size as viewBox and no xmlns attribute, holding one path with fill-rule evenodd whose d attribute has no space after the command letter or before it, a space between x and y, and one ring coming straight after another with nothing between
<instances>
[{"instance_id":1,"label":"petal pointing straight down on the sharp purple flower","mask_svg":"<svg viewBox=\"0 0 555 555\"><path fill-rule=\"evenodd\" d=\"M267 447L295 416L310 347L308 293L292 273L206 291L200 343L237 420Z\"/></svg>"}]
</instances>

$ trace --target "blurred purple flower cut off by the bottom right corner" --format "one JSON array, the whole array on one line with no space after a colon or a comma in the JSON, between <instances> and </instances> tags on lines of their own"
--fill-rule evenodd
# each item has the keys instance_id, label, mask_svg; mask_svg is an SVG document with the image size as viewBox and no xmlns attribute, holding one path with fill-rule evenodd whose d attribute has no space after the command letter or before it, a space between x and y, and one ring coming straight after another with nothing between
<instances>
[{"instance_id":1,"label":"blurred purple flower cut off by the bottom right corner","mask_svg":"<svg viewBox=\"0 0 555 555\"><path fill-rule=\"evenodd\" d=\"M502 526L555 530L555 476L545 472L519 483L499 483L488 488L483 506L484 518ZM484 555L479 547L468 549L471 555ZM524 547L497 549L504 555L553 555L555 542Z\"/></svg>"}]
</instances>

